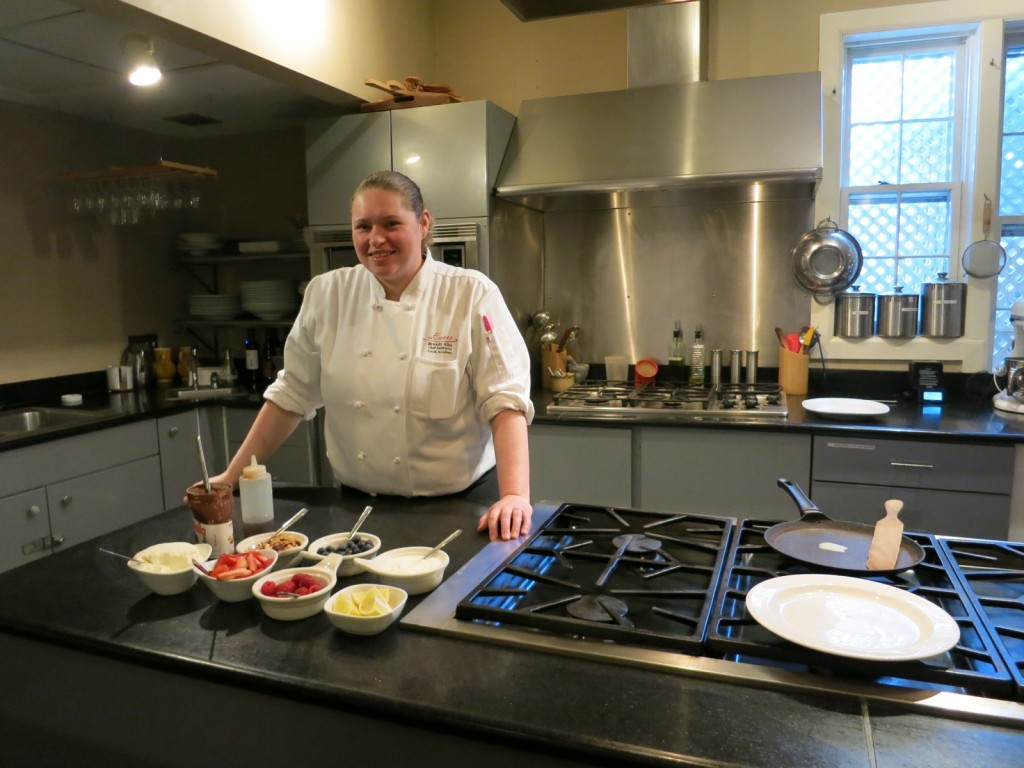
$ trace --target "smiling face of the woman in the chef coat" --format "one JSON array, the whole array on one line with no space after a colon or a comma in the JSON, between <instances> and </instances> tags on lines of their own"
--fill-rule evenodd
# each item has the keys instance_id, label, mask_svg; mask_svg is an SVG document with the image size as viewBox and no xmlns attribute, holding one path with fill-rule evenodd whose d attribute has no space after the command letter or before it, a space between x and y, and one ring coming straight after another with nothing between
<instances>
[{"instance_id":1,"label":"smiling face of the woman in the chef coat","mask_svg":"<svg viewBox=\"0 0 1024 768\"><path fill-rule=\"evenodd\" d=\"M352 198L352 242L359 262L396 301L423 265L430 212L417 214L396 191L368 187Z\"/></svg>"}]
</instances>

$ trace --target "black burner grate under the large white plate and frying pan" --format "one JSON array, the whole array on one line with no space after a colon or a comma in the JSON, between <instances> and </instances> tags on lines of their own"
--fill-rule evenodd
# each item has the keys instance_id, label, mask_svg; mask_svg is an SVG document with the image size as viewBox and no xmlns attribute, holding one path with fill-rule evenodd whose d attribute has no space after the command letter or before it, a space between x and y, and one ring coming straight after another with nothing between
<instances>
[{"instance_id":1,"label":"black burner grate under the large white plate and frying pan","mask_svg":"<svg viewBox=\"0 0 1024 768\"><path fill-rule=\"evenodd\" d=\"M772 522L740 520L715 598L709 623L708 650L729 660L779 665L818 674L841 671L887 685L926 683L938 689L1008 697L1013 694L1010 670L985 629L966 591L934 537L907 534L925 550L925 560L912 570L891 577L864 577L914 593L947 611L961 628L961 641L946 653L916 662L864 662L822 653L783 640L758 624L746 611L746 593L768 579L790 573L822 572L785 557L765 543Z\"/></svg>"}]
</instances>

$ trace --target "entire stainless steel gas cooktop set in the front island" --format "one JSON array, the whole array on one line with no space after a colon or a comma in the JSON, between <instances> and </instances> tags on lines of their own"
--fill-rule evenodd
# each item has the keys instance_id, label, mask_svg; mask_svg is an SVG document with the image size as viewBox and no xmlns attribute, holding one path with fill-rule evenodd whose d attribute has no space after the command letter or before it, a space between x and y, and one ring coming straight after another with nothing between
<instances>
[{"instance_id":1,"label":"entire stainless steel gas cooktop set in the front island","mask_svg":"<svg viewBox=\"0 0 1024 768\"><path fill-rule=\"evenodd\" d=\"M745 596L819 572L765 541L771 520L539 503L528 541L494 542L404 627L769 688L899 702L1024 724L1024 547L910 532L912 569L865 577L940 606L961 628L931 658L862 662L778 637ZM821 572L826 572L821 570Z\"/></svg>"}]
</instances>

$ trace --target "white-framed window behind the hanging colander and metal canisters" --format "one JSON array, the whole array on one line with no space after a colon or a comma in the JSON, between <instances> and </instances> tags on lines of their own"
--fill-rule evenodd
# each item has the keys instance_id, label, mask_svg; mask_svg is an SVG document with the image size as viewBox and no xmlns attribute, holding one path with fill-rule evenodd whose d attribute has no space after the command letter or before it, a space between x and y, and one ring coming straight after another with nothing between
<instances>
[{"instance_id":1,"label":"white-framed window behind the hanging colander and metal canisters","mask_svg":"<svg viewBox=\"0 0 1024 768\"><path fill-rule=\"evenodd\" d=\"M940 272L970 285L955 340L849 343L827 336L830 307L812 305L834 357L996 370L1012 346L1010 308L1024 299L1024 4L823 13L819 62L828 152L816 219L835 215L860 241L861 289L920 293ZM962 256L986 239L1002 246L1005 268L965 274Z\"/></svg>"}]
</instances>

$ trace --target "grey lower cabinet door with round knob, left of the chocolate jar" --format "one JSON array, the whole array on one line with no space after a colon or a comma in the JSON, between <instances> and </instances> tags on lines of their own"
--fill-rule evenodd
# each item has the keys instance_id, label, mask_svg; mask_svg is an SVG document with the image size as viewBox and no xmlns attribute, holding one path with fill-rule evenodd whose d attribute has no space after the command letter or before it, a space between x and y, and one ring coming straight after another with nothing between
<instances>
[{"instance_id":1,"label":"grey lower cabinet door with round knob, left of the chocolate jar","mask_svg":"<svg viewBox=\"0 0 1024 768\"><path fill-rule=\"evenodd\" d=\"M54 547L80 544L158 515L163 498L157 456L47 485Z\"/></svg>"}]
</instances>

